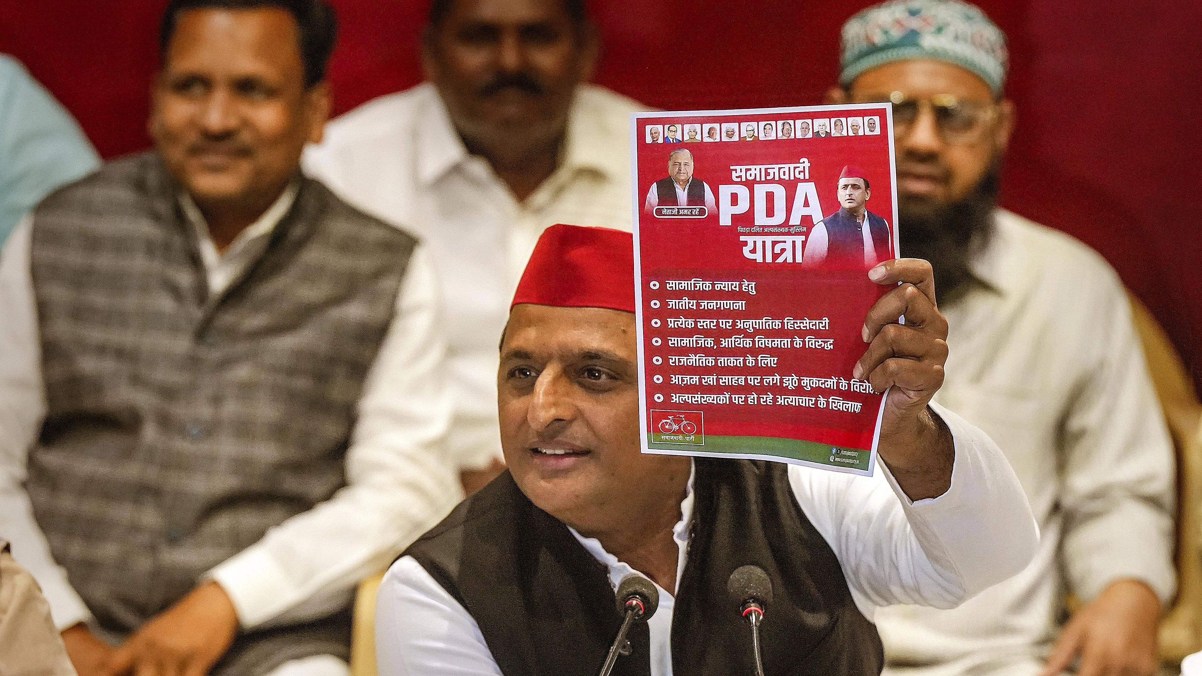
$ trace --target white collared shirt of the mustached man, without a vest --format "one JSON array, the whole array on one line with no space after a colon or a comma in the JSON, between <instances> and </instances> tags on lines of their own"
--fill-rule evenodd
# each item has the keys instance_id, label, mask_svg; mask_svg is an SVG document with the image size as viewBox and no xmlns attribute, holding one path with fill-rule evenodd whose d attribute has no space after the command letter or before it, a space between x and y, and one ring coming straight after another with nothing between
<instances>
[{"instance_id":1,"label":"white collared shirt of the mustached man, without a vest","mask_svg":"<svg viewBox=\"0 0 1202 676\"><path fill-rule=\"evenodd\" d=\"M638 103L582 85L559 166L524 201L468 153L432 84L381 96L329 123L305 170L430 250L454 397L451 447L468 468L501 456L496 342L535 242L557 223L631 229L630 113Z\"/></svg>"}]
</instances>

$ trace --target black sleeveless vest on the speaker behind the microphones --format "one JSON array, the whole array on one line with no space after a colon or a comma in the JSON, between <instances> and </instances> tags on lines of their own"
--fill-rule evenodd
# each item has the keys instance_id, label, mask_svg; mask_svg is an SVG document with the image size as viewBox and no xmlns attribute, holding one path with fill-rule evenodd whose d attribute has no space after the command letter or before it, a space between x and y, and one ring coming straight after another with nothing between
<instances>
[{"instance_id":1,"label":"black sleeveless vest on the speaker behind the microphones","mask_svg":"<svg viewBox=\"0 0 1202 676\"><path fill-rule=\"evenodd\" d=\"M754 563L772 579L764 674L880 674L876 628L793 498L779 463L698 458L689 558L672 622L676 676L751 674L751 629L726 592ZM595 674L621 617L603 564L508 473L468 498L407 552L468 610L506 676ZM615 676L649 676L647 624Z\"/></svg>"}]
</instances>

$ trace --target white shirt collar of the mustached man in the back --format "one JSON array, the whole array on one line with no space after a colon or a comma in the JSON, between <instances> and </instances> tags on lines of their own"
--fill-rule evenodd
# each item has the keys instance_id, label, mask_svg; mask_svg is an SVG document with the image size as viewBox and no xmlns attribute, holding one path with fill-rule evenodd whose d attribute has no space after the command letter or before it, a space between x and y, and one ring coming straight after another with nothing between
<instances>
[{"instance_id":1,"label":"white shirt collar of the mustached man in the back","mask_svg":"<svg viewBox=\"0 0 1202 676\"><path fill-rule=\"evenodd\" d=\"M607 141L613 138L613 124L626 124L625 119L605 119L603 112L595 111L588 103L582 84L576 91L572 106L567 113L567 134L560 149L560 164L555 174L572 176L578 171L595 171L608 179L615 179L629 172L623 161L611 160L614 155ZM471 154L451 121L451 113L433 83L418 85L415 95L424 99L424 113L418 119L427 120L417 134L417 177L423 185L429 186L442 178L452 168L471 160ZM608 134L607 134L608 132ZM623 156L623 160L627 158Z\"/></svg>"}]
</instances>

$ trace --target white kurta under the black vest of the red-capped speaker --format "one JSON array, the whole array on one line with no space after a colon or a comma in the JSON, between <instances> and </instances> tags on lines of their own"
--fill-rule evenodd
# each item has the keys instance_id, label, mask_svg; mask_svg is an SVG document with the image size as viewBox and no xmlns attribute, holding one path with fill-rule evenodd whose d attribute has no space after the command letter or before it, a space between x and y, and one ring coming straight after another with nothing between
<instances>
[{"instance_id":1,"label":"white kurta under the black vest of the red-capped speaker","mask_svg":"<svg viewBox=\"0 0 1202 676\"><path fill-rule=\"evenodd\" d=\"M1001 451L980 429L933 408L956 444L952 486L938 498L911 502L883 463L871 478L789 468L797 503L834 551L856 605L869 618L889 604L952 607L1022 570L1036 551L1035 521ZM690 481L673 530L677 580L686 562L691 511ZM614 587L633 571L596 540L577 538L608 568ZM651 675L671 676L674 599L659 591L660 607L649 622ZM376 658L381 676L500 674L475 619L411 557L394 563L380 587Z\"/></svg>"}]
</instances>

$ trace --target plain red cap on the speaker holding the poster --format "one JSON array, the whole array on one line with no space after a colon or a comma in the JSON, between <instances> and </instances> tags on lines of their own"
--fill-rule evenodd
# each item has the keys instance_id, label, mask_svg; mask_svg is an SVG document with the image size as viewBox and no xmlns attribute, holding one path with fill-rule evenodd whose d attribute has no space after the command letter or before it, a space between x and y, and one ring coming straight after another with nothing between
<instances>
[{"instance_id":1,"label":"plain red cap on the speaker holding the poster","mask_svg":"<svg viewBox=\"0 0 1202 676\"><path fill-rule=\"evenodd\" d=\"M510 308L518 303L635 312L633 237L608 227L548 227Z\"/></svg>"}]
</instances>

